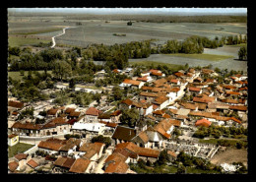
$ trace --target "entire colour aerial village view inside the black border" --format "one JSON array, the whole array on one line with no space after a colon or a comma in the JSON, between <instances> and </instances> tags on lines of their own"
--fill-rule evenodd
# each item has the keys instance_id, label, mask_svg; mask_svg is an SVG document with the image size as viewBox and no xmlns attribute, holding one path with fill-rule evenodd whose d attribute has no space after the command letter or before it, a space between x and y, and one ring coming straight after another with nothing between
<instances>
[{"instance_id":1,"label":"entire colour aerial village view inside the black border","mask_svg":"<svg viewBox=\"0 0 256 182\"><path fill-rule=\"evenodd\" d=\"M9 174L248 174L247 8L7 8Z\"/></svg>"}]
</instances>

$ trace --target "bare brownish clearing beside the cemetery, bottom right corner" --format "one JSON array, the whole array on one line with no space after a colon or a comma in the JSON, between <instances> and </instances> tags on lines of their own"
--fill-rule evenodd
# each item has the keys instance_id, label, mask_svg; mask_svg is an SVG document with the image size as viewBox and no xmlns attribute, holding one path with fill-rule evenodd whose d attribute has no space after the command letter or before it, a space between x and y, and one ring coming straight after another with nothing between
<instances>
[{"instance_id":1,"label":"bare brownish clearing beside the cemetery, bottom right corner","mask_svg":"<svg viewBox=\"0 0 256 182\"><path fill-rule=\"evenodd\" d=\"M245 166L247 166L247 150L234 150L228 149L225 152L217 153L212 159L211 162L220 165L221 163L229 163L232 162L242 162Z\"/></svg>"}]
</instances>

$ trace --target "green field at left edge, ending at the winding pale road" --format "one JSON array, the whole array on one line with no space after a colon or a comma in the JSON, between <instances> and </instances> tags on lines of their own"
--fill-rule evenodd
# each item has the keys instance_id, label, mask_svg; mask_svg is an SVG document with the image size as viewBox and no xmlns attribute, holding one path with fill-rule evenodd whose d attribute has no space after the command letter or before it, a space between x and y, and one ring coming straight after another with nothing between
<instances>
[{"instance_id":1,"label":"green field at left edge, ending at the winding pale road","mask_svg":"<svg viewBox=\"0 0 256 182\"><path fill-rule=\"evenodd\" d=\"M9 46L11 46L11 47L32 45L32 44L36 44L39 42L49 43L49 42L51 42L51 40L50 39L46 40L46 39L26 38L26 37L20 37L20 36L9 36L8 37L8 43L9 43Z\"/></svg>"}]
</instances>

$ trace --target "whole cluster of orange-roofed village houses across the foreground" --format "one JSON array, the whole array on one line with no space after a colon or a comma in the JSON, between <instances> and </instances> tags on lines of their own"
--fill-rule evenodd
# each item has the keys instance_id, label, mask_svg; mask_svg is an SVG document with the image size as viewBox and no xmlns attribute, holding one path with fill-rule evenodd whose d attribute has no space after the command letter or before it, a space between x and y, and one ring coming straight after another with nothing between
<instances>
[{"instance_id":1,"label":"whole cluster of orange-roofed village houses across the foreground","mask_svg":"<svg viewBox=\"0 0 256 182\"><path fill-rule=\"evenodd\" d=\"M113 70L116 74L131 71ZM103 77L104 74L102 70L96 75ZM212 124L247 127L247 77L235 75L219 84L216 76L213 70L192 68L167 77L160 70L142 72L141 77L125 79L119 85L122 89L138 89L139 95L121 100L118 108L111 112L92 106L45 104L47 106L35 107L35 119L17 120L29 105L9 100L8 131L20 139L47 137L37 147L38 151L57 156L52 162L52 172L134 173L129 162L136 163L140 158L156 161L163 149L168 150L171 159L176 158L179 152L168 147L176 129L195 131L198 126ZM122 110L131 108L138 109L140 114L135 128L120 122ZM39 114L42 111L44 115ZM41 120L43 122L39 122ZM79 135L80 139L57 139L66 134ZM99 135L111 138L108 148L103 143L91 142ZM28 158L24 160L27 163L24 165L28 165ZM18 160L8 165L12 172L20 170Z\"/></svg>"}]
</instances>

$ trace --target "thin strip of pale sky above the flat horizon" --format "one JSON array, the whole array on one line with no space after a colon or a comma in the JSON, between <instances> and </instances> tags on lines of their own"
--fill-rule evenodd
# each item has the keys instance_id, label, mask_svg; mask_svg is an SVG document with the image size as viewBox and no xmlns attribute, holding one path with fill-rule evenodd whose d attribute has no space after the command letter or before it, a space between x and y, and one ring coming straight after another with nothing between
<instances>
[{"instance_id":1,"label":"thin strip of pale sky above the flat horizon","mask_svg":"<svg viewBox=\"0 0 256 182\"><path fill-rule=\"evenodd\" d=\"M129 14L129 15L230 15L247 14L247 8L8 8L12 13Z\"/></svg>"}]
</instances>

